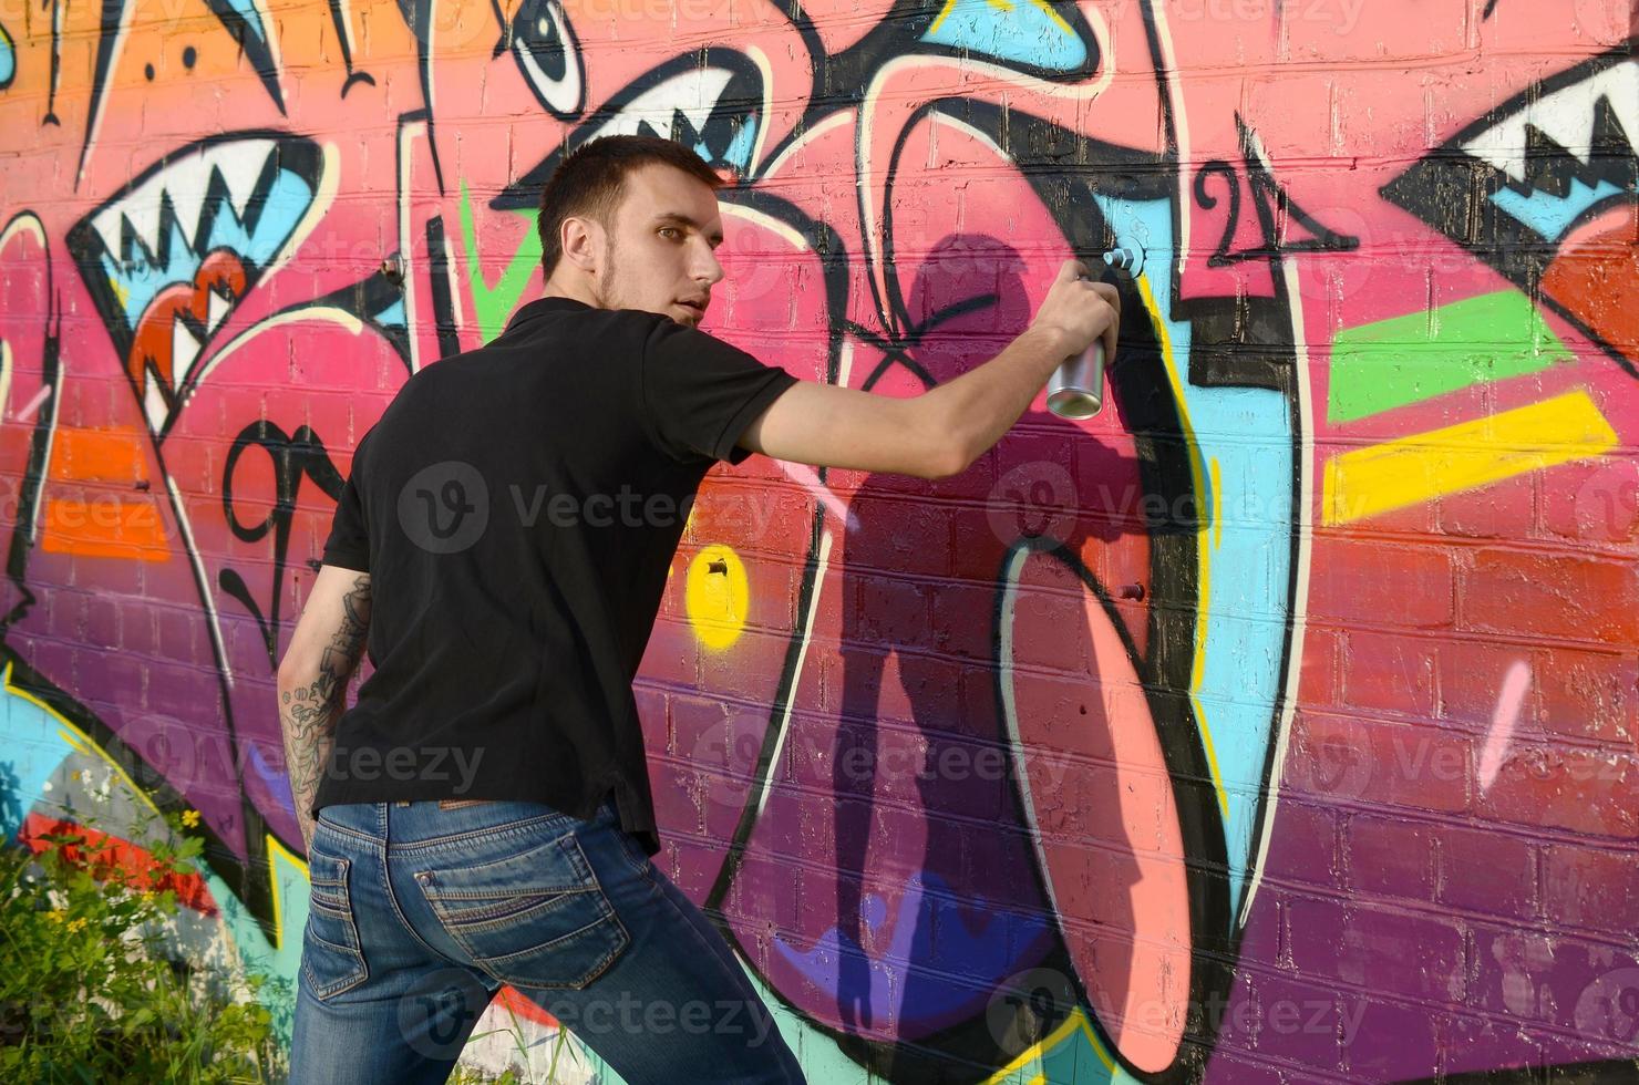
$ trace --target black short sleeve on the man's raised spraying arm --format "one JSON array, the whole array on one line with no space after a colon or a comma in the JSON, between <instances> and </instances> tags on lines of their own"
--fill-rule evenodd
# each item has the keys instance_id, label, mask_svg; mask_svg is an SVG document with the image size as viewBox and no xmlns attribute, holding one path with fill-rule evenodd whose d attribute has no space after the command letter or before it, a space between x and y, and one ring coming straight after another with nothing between
<instances>
[{"instance_id":1,"label":"black short sleeve on the man's raised spraying arm","mask_svg":"<svg viewBox=\"0 0 1639 1085\"><path fill-rule=\"evenodd\" d=\"M644 411L661 451L677 461L739 464L751 456L736 444L746 426L793 384L783 369L670 320L644 343Z\"/></svg>"}]
</instances>

